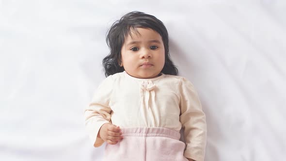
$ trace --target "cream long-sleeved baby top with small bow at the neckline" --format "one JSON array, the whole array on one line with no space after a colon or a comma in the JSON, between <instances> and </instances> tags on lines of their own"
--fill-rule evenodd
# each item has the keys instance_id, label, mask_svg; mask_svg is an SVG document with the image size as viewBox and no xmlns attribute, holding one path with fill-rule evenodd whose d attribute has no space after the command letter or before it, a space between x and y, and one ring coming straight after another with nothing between
<instances>
[{"instance_id":1,"label":"cream long-sleeved baby top with small bow at the neckline","mask_svg":"<svg viewBox=\"0 0 286 161\"><path fill-rule=\"evenodd\" d=\"M152 79L131 77L127 72L107 77L85 109L87 132L95 147L100 127L108 122L121 128L185 128L184 156L203 161L207 125L198 94L192 83L180 76L161 74Z\"/></svg>"}]
</instances>

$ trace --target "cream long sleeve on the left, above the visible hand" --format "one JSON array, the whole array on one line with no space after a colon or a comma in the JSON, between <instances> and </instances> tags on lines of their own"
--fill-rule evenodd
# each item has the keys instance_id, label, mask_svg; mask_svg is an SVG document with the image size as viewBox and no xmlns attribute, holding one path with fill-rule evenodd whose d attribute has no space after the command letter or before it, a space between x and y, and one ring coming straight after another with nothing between
<instances>
[{"instance_id":1,"label":"cream long sleeve on the left, above the visible hand","mask_svg":"<svg viewBox=\"0 0 286 161\"><path fill-rule=\"evenodd\" d=\"M104 143L97 137L99 129L103 124L111 121L112 87L112 76L109 76L98 86L91 103L84 111L85 129L95 147Z\"/></svg>"}]
</instances>

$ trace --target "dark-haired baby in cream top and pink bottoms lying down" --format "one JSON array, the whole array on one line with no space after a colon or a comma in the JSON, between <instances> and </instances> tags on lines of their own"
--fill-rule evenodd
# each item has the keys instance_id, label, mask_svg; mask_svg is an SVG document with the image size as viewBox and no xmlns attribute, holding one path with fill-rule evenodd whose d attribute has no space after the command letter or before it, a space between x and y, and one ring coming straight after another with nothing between
<instances>
[{"instance_id":1,"label":"dark-haired baby in cream top and pink bottoms lying down","mask_svg":"<svg viewBox=\"0 0 286 161\"><path fill-rule=\"evenodd\" d=\"M204 161L206 116L193 84L177 76L164 24L130 12L106 40L107 78L84 113L93 145L107 143L104 161Z\"/></svg>"}]
</instances>

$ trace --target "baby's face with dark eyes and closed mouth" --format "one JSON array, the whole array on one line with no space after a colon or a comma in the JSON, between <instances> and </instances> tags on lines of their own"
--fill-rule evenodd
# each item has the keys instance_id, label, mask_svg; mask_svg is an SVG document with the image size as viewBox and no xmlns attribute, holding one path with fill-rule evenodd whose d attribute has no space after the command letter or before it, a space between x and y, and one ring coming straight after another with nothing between
<instances>
[{"instance_id":1,"label":"baby's face with dark eyes and closed mouth","mask_svg":"<svg viewBox=\"0 0 286 161\"><path fill-rule=\"evenodd\" d=\"M131 32L121 48L121 64L125 71L136 78L155 78L165 64L165 49L158 32L137 28Z\"/></svg>"}]
</instances>

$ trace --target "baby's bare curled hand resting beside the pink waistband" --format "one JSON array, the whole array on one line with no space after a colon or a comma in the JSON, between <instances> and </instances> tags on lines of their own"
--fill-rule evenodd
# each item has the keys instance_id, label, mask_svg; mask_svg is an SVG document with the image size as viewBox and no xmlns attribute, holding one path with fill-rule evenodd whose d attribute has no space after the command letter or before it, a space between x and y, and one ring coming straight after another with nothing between
<instances>
[{"instance_id":1,"label":"baby's bare curled hand resting beside the pink waistband","mask_svg":"<svg viewBox=\"0 0 286 161\"><path fill-rule=\"evenodd\" d=\"M103 124L99 129L98 135L97 137L111 145L115 145L123 139L121 129L111 123Z\"/></svg>"}]
</instances>

